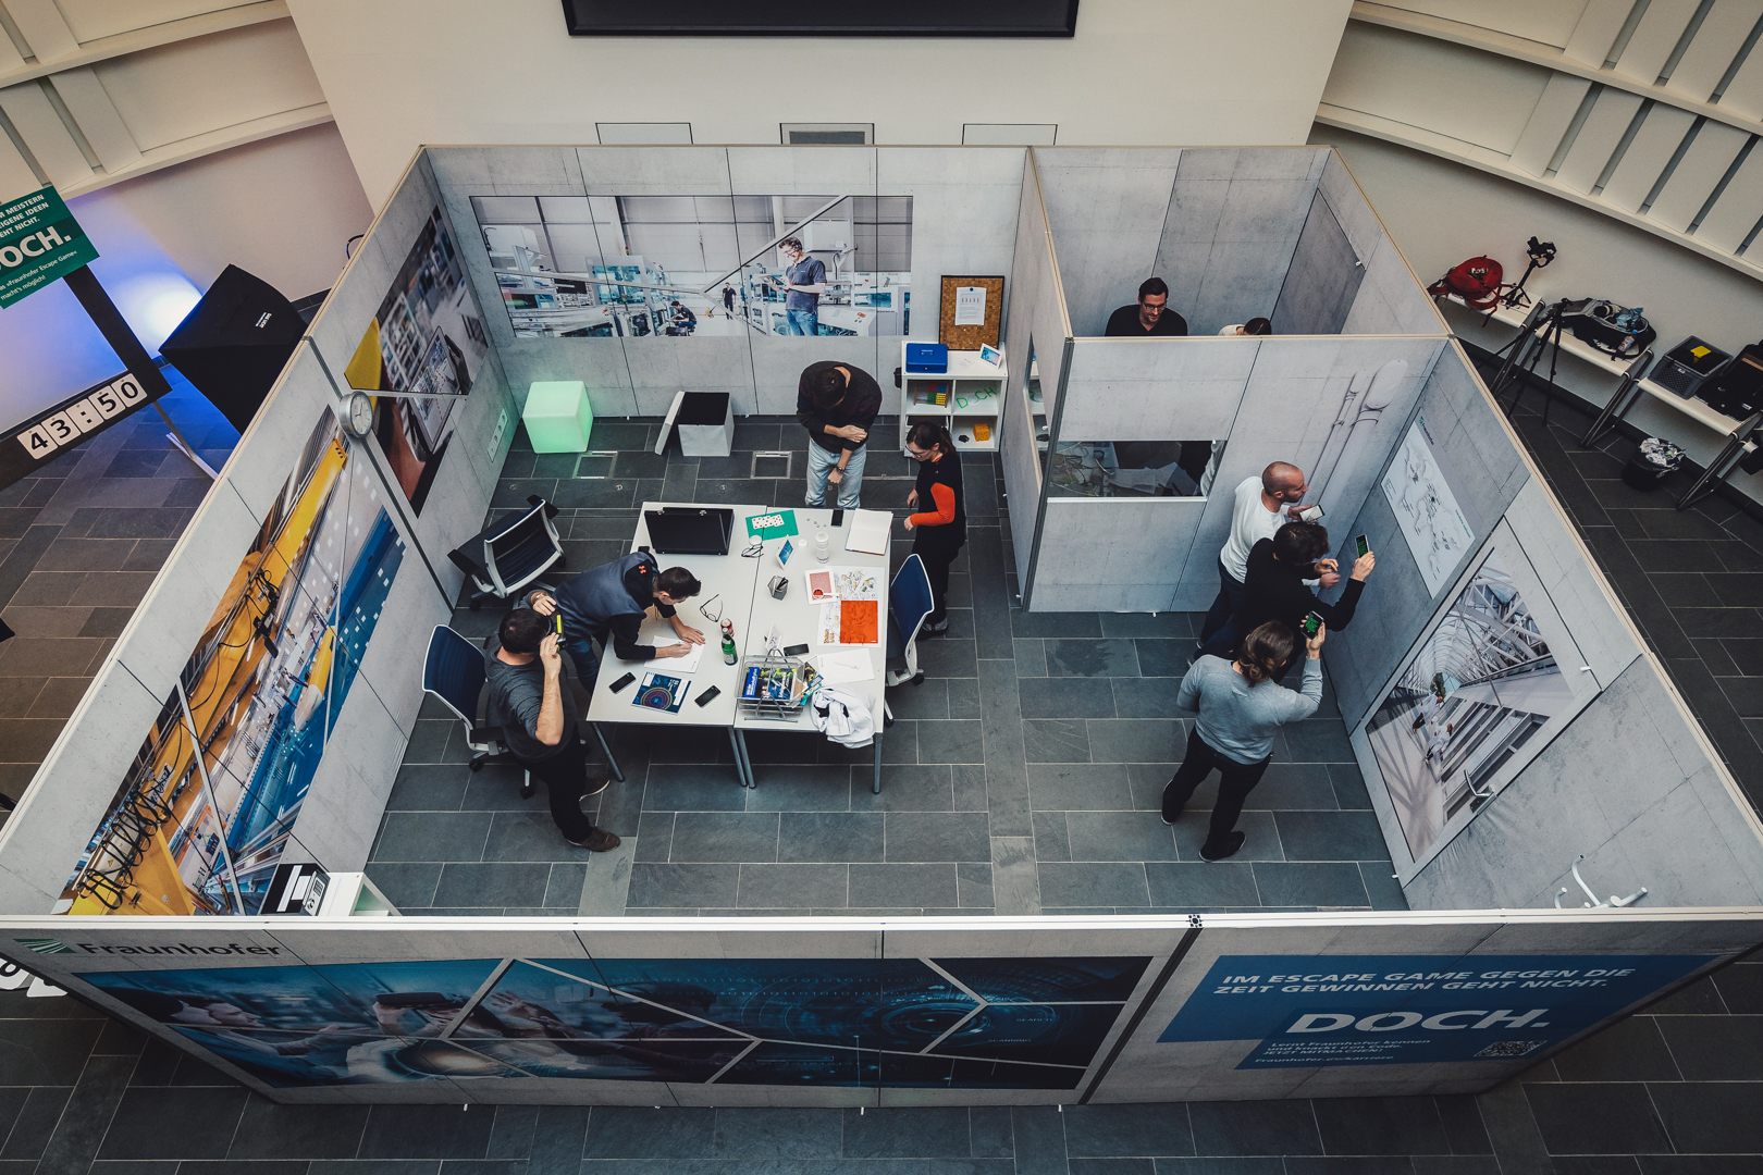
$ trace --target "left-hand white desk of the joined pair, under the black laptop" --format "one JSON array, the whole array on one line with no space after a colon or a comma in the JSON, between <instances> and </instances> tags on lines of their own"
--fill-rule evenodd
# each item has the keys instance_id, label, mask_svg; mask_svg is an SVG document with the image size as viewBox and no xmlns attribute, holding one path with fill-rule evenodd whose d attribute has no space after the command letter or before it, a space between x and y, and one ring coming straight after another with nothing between
<instances>
[{"instance_id":1,"label":"left-hand white desk of the joined pair, under the black laptop","mask_svg":"<svg viewBox=\"0 0 1763 1175\"><path fill-rule=\"evenodd\" d=\"M643 502L645 511L661 509L663 506L705 506L703 502ZM748 622L753 611L753 588L758 580L760 558L742 558L740 551L748 548L748 518L753 514L767 514L772 507L769 506L726 506L718 504L714 509L732 509L733 532L728 539L726 555L656 555L656 562L666 567L684 567L691 574L698 576L703 585L695 597L679 606L679 617L695 629L703 629L705 648L698 659L698 668L689 675L689 685L686 687L686 705L679 708L679 713L666 713L665 710L649 710L645 706L633 705L636 691L642 687L645 673L663 673L673 676L668 666L675 664L672 657L656 657L651 661L621 661L612 652L612 643L601 650L599 682L594 687L594 694L587 705L587 721L594 724L596 729L603 722L615 724L636 724L636 726L721 726L728 728L728 742L735 754L735 770L740 782L746 784L746 772L740 766L742 750L735 743L733 722L735 722L735 696L739 691L739 664L723 664L723 636L719 632L719 624L703 615L703 608L709 606L714 615L718 608L723 618L735 622L735 639L740 639L740 629ZM649 523L638 516L636 520L636 537L631 539L631 550L640 546L649 546ZM772 560L776 562L776 560ZM673 634L673 625L668 620L658 617L649 617L643 620L642 643L645 645L672 645L679 638ZM636 682L626 685L617 694L614 694L608 685L617 682L626 673L636 675ZM686 675L681 675L686 676ZM709 701L709 705L696 705L693 698L703 691L716 685L723 692ZM608 749L610 757L610 749ZM614 770L617 770L614 761Z\"/></svg>"}]
</instances>

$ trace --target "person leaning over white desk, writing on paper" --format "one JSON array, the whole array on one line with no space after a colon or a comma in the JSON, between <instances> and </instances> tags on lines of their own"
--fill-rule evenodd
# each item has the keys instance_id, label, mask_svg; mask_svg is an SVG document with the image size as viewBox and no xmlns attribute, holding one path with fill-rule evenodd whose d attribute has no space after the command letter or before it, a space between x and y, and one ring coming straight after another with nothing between
<instances>
[{"instance_id":1,"label":"person leaning over white desk, writing on paper","mask_svg":"<svg viewBox=\"0 0 1763 1175\"><path fill-rule=\"evenodd\" d=\"M682 604L703 588L698 578L684 567L659 569L649 551L631 551L610 564L584 571L557 588L557 595L543 590L527 594L527 606L541 617L562 610L564 648L575 661L575 675L592 689L599 673L599 657L592 641L606 648L612 636L612 654L619 661L649 661L651 657L684 657L693 645L703 643L703 631L679 618L675 604ZM654 608L673 622L673 632L684 645L638 645L643 618Z\"/></svg>"}]
</instances>

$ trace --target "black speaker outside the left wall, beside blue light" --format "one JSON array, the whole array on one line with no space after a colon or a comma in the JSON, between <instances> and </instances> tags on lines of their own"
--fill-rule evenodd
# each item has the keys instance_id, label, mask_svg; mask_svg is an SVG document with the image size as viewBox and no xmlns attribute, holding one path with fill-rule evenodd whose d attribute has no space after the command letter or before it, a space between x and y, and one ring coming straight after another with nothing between
<instances>
[{"instance_id":1,"label":"black speaker outside the left wall, beside blue light","mask_svg":"<svg viewBox=\"0 0 1763 1175\"><path fill-rule=\"evenodd\" d=\"M245 432L303 331L280 291L227 266L159 354Z\"/></svg>"}]
</instances>

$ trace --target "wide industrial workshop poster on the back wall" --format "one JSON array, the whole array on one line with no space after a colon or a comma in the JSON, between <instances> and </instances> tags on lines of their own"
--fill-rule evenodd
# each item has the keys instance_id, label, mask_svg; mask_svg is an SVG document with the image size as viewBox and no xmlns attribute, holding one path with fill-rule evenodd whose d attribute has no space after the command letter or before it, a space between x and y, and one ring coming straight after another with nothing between
<instances>
[{"instance_id":1,"label":"wide industrial workshop poster on the back wall","mask_svg":"<svg viewBox=\"0 0 1763 1175\"><path fill-rule=\"evenodd\" d=\"M910 196L474 196L471 204L515 338L910 329Z\"/></svg>"}]
</instances>

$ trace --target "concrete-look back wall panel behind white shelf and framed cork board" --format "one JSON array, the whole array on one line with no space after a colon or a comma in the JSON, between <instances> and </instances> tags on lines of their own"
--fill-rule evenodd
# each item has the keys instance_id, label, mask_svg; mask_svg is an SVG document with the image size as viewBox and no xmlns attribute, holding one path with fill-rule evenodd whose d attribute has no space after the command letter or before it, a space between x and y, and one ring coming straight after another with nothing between
<instances>
[{"instance_id":1,"label":"concrete-look back wall panel behind white shelf and framed cork board","mask_svg":"<svg viewBox=\"0 0 1763 1175\"><path fill-rule=\"evenodd\" d=\"M945 273L1012 271L1026 157L1021 146L876 150L876 194L911 197L911 338L936 338ZM1005 282L1005 322L1014 287Z\"/></svg>"}]
</instances>

